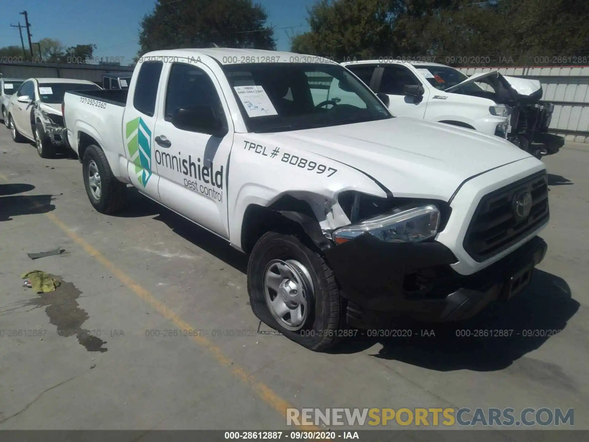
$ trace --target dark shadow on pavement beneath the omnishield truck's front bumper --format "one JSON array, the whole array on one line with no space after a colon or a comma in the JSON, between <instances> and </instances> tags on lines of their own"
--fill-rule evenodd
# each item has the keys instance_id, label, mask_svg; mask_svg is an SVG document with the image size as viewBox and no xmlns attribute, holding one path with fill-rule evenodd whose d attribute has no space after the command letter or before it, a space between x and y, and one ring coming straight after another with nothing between
<instances>
[{"instance_id":1,"label":"dark shadow on pavement beneath the omnishield truck's front bumper","mask_svg":"<svg viewBox=\"0 0 589 442\"><path fill-rule=\"evenodd\" d=\"M407 321L391 329L411 330L405 332L411 337L356 337L334 352L363 351L378 342L383 348L377 358L438 371L502 370L561 332L579 306L564 279L535 269L524 292L508 303L495 302L467 321L437 325Z\"/></svg>"}]
</instances>

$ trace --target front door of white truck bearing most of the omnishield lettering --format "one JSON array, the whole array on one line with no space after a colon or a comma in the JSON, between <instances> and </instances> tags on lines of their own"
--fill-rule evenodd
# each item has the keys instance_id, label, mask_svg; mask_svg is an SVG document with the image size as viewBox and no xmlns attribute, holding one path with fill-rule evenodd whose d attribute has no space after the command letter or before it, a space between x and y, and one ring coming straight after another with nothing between
<instances>
[{"instance_id":1,"label":"front door of white truck bearing most of the omnishield lettering","mask_svg":"<svg viewBox=\"0 0 589 442\"><path fill-rule=\"evenodd\" d=\"M227 167L233 145L233 121L213 70L200 58L164 67L166 90L158 104L154 160L160 175L161 202L229 238ZM175 111L210 108L228 128L221 137L174 126Z\"/></svg>"}]
</instances>

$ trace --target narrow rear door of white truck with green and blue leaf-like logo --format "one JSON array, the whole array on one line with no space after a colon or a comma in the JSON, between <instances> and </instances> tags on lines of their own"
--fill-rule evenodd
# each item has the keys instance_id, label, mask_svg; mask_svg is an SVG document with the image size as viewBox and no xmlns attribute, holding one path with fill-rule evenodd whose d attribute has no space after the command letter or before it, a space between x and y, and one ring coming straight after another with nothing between
<instances>
[{"instance_id":1,"label":"narrow rear door of white truck with green and blue leaf-like logo","mask_svg":"<svg viewBox=\"0 0 589 442\"><path fill-rule=\"evenodd\" d=\"M123 116L123 140L127 171L131 183L137 189L159 200L157 169L154 166L154 126L158 88L163 62L145 61L141 65L137 81L131 85L128 103Z\"/></svg>"}]
</instances>

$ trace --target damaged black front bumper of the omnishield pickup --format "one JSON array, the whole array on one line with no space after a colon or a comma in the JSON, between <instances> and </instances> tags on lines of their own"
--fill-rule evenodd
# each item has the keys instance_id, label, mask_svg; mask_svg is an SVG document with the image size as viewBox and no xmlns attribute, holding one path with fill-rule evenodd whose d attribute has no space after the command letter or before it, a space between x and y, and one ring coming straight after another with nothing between
<instances>
[{"instance_id":1,"label":"damaged black front bumper of the omnishield pickup","mask_svg":"<svg viewBox=\"0 0 589 442\"><path fill-rule=\"evenodd\" d=\"M327 250L326 258L347 299L348 324L369 328L395 316L470 318L521 291L546 251L544 240L534 237L487 268L460 275L450 267L456 257L442 243L385 243L366 233Z\"/></svg>"}]
</instances>

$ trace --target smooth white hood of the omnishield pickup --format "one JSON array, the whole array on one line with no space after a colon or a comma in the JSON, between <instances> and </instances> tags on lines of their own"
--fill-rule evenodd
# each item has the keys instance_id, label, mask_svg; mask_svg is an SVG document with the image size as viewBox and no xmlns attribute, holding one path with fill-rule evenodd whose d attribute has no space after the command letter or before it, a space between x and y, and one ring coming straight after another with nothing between
<instances>
[{"instance_id":1,"label":"smooth white hood of the omnishield pickup","mask_svg":"<svg viewBox=\"0 0 589 442\"><path fill-rule=\"evenodd\" d=\"M530 157L502 138L408 117L263 137L360 170L393 196L444 201L466 179Z\"/></svg>"}]
</instances>

